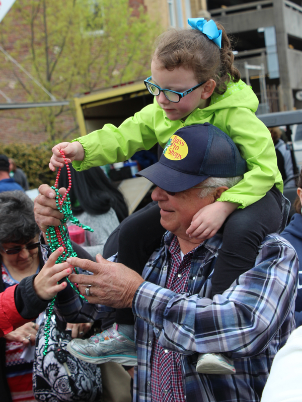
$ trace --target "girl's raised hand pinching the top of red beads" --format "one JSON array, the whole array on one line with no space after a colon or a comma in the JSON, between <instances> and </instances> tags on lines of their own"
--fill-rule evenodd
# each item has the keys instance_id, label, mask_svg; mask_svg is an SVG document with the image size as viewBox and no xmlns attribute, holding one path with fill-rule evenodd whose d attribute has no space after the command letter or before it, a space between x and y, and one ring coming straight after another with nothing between
<instances>
[{"instance_id":1,"label":"girl's raised hand pinching the top of red beads","mask_svg":"<svg viewBox=\"0 0 302 402\"><path fill-rule=\"evenodd\" d=\"M60 150L64 152L67 162L70 163L73 160L83 160L85 156L84 148L79 141L75 142L60 142L52 148L52 157L49 162L49 169L55 172L56 167L64 166L64 159L60 153Z\"/></svg>"}]
</instances>

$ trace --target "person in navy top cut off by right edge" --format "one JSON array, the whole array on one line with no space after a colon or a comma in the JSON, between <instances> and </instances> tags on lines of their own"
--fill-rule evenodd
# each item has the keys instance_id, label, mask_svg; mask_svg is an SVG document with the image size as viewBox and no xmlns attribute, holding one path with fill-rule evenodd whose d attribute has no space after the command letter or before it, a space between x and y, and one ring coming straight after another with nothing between
<instances>
[{"instance_id":1,"label":"person in navy top cut off by right edge","mask_svg":"<svg viewBox=\"0 0 302 402\"><path fill-rule=\"evenodd\" d=\"M299 272L302 271L302 169L298 179L297 197L294 202L296 213L292 216L290 223L281 233L286 240L294 247L300 264ZM299 274L298 292L295 302L295 321L296 326L302 325L302 274Z\"/></svg>"}]
</instances>

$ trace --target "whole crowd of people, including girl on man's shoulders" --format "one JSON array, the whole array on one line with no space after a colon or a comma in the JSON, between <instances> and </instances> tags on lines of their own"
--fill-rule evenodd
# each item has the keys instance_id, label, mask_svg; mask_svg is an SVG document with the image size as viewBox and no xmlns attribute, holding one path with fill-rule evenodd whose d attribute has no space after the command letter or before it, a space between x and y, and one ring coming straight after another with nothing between
<instances>
[{"instance_id":1,"label":"whole crowd of people, including girl on man's shoulders","mask_svg":"<svg viewBox=\"0 0 302 402\"><path fill-rule=\"evenodd\" d=\"M61 227L60 244L71 244L56 191L42 184L33 207L14 180L18 169L12 178L10 161L0 156L5 401L80 400L67 357L56 357L60 381L61 371L47 374L51 360L46 374L41 370L47 392L45 385L40 399L33 390L33 367L35 381L49 346L45 341L38 355L39 326L45 340L52 336L49 303L53 325L71 330L54 356L63 349L79 364L122 364L132 382L121 400L130 392L135 402L300 399L302 171L296 214L285 227L290 205L282 178L290 172L288 155L276 146L281 140L274 146L273 131L255 116L258 99L240 79L223 27L203 18L188 23L192 29L170 30L156 43L144 81L152 105L118 128L108 124L52 149L49 167L62 169L60 194L71 179L72 214L95 230L85 250L72 244L77 257L56 263L65 251L51 252L49 227ZM155 185L152 203L127 217L121 193L99 166L156 143L159 161L137 173ZM276 150L287 161L282 174ZM282 381L286 363L295 370L290 388Z\"/></svg>"}]
</instances>

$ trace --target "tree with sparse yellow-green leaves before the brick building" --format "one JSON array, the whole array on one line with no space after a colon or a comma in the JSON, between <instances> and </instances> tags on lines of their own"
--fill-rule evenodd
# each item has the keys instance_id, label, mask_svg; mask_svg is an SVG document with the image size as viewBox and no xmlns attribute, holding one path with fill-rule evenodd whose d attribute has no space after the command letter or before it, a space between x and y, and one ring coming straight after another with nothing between
<instances>
[{"instance_id":1,"label":"tree with sparse yellow-green leaves before the brick building","mask_svg":"<svg viewBox=\"0 0 302 402\"><path fill-rule=\"evenodd\" d=\"M18 0L0 24L0 42L60 100L147 76L159 30L143 7L133 13L128 0ZM24 100L50 100L2 53L0 65L14 74ZM78 135L72 102L12 116L22 121L20 129L47 133L49 142Z\"/></svg>"}]
</instances>

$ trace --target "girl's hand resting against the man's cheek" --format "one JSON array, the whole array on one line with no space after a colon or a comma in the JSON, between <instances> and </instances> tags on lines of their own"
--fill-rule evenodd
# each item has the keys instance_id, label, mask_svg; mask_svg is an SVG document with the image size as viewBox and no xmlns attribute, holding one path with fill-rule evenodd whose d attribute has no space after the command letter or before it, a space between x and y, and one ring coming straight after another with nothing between
<instances>
[{"instance_id":1,"label":"girl's hand resting against the man's cheek","mask_svg":"<svg viewBox=\"0 0 302 402\"><path fill-rule=\"evenodd\" d=\"M210 239L238 206L239 204L229 203L228 201L217 201L214 204L205 206L193 216L186 234L198 240Z\"/></svg>"}]
</instances>

